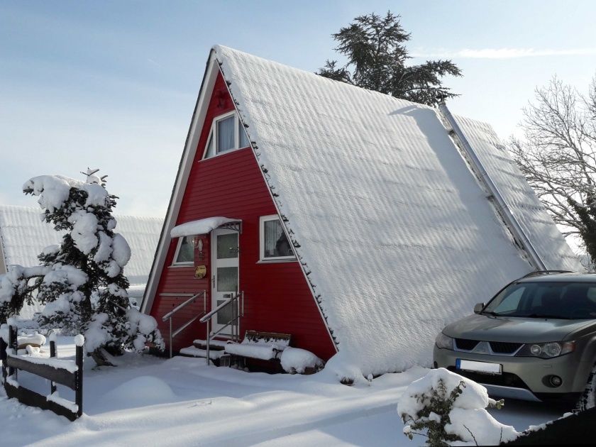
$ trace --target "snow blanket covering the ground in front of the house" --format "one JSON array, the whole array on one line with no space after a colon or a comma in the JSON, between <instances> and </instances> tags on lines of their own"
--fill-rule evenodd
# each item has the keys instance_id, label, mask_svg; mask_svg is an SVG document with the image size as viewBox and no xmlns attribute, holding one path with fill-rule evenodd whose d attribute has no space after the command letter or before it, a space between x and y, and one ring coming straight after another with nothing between
<instances>
[{"instance_id":1,"label":"snow blanket covering the ground in front of the house","mask_svg":"<svg viewBox=\"0 0 596 447\"><path fill-rule=\"evenodd\" d=\"M74 358L72 338L58 337L60 358ZM204 359L126 355L115 368L86 360L84 416L61 416L6 399L0 433L11 446L419 446L409 441L397 399L428 370L412 368L348 387L331 374L267 375L206 366ZM21 385L48 394L49 383L21 373ZM60 397L74 399L58 388ZM563 409L508 400L491 414L518 431L556 419Z\"/></svg>"}]
</instances>

